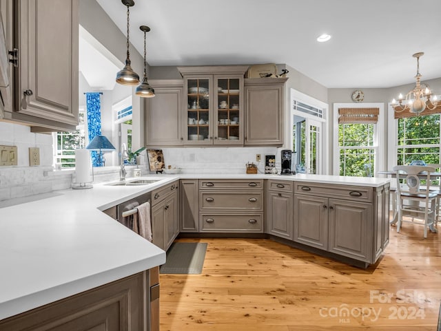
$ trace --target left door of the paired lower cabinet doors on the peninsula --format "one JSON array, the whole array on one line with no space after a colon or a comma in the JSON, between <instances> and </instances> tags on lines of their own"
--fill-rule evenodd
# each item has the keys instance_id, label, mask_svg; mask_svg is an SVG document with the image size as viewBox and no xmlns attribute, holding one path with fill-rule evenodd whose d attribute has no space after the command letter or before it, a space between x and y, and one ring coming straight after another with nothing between
<instances>
[{"instance_id":1,"label":"left door of the paired lower cabinet doors on the peninsula","mask_svg":"<svg viewBox=\"0 0 441 331\"><path fill-rule=\"evenodd\" d=\"M327 249L328 199L309 195L294 195L294 241Z\"/></svg>"}]
</instances>

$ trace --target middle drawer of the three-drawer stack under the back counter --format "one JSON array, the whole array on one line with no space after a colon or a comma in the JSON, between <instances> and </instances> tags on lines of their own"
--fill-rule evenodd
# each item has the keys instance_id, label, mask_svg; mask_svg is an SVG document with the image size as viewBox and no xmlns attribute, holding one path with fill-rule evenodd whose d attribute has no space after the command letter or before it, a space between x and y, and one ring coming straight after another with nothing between
<instances>
[{"instance_id":1,"label":"middle drawer of the three-drawer stack under the back counter","mask_svg":"<svg viewBox=\"0 0 441 331\"><path fill-rule=\"evenodd\" d=\"M201 211L213 209L261 211L263 209L263 192L201 191L199 193L199 208Z\"/></svg>"}]
</instances>

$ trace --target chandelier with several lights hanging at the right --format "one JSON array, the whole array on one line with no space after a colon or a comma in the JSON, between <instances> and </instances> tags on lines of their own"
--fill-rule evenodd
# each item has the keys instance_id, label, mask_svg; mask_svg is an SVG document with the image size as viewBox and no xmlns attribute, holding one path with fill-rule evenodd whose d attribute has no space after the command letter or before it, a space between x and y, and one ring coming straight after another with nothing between
<instances>
[{"instance_id":1,"label":"chandelier with several lights hanging at the right","mask_svg":"<svg viewBox=\"0 0 441 331\"><path fill-rule=\"evenodd\" d=\"M401 112L404 110L410 111L411 113L419 115L424 109L433 110L441 103L436 99L436 96L433 96L431 100L431 96L433 95L429 85L421 83L422 74L420 74L420 57L423 56L423 52L418 52L413 54L413 57L416 58L416 85L415 87L409 91L406 96L398 96L398 103L395 99L392 100L391 106L393 110L397 112ZM424 98L426 100L424 100Z\"/></svg>"}]
</instances>

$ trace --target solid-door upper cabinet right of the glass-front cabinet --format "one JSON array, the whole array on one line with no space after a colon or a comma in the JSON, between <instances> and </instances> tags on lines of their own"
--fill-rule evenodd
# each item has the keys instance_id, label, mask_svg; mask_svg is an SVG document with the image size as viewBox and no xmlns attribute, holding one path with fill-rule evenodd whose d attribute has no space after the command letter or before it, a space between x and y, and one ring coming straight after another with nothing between
<instances>
[{"instance_id":1,"label":"solid-door upper cabinet right of the glass-front cabinet","mask_svg":"<svg viewBox=\"0 0 441 331\"><path fill-rule=\"evenodd\" d=\"M287 79L245 79L245 146L283 145Z\"/></svg>"}]
</instances>

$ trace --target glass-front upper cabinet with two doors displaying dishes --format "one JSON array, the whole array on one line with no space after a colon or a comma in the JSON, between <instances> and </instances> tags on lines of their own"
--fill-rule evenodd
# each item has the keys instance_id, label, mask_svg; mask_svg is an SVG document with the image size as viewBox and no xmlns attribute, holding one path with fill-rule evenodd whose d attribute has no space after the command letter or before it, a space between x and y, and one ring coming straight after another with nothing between
<instances>
[{"instance_id":1,"label":"glass-front upper cabinet with two doors displaying dishes","mask_svg":"<svg viewBox=\"0 0 441 331\"><path fill-rule=\"evenodd\" d=\"M247 66L178 67L184 78L184 145L243 145Z\"/></svg>"}]
</instances>

